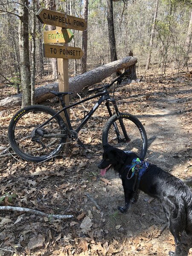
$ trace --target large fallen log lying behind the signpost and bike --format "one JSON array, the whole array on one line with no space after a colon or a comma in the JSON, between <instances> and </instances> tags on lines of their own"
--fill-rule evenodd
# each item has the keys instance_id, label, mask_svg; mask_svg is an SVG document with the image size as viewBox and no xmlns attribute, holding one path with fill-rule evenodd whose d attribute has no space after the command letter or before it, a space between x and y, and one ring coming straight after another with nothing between
<instances>
[{"instance_id":1,"label":"large fallen log lying behind the signpost and bike","mask_svg":"<svg viewBox=\"0 0 192 256\"><path fill-rule=\"evenodd\" d=\"M84 87L89 87L93 84L101 82L108 76L111 76L113 73L127 69L128 67L136 64L137 58L135 57L125 57L118 61L113 61L108 64L97 67L93 70L87 71L84 74L72 77L69 79L69 91L72 93L80 93ZM38 87L35 89L35 102L41 103L47 99L54 97L51 90L58 90L58 82L52 84L46 84L45 86ZM6 97L5 99L0 100L0 111L13 108L21 105L22 93L17 95Z\"/></svg>"}]
</instances>

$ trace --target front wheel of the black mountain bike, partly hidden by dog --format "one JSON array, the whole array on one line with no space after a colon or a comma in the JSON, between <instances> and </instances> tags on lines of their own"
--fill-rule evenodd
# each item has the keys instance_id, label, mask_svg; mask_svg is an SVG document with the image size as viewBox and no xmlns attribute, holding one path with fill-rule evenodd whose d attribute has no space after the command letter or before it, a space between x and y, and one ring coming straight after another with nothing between
<instances>
[{"instance_id":1,"label":"front wheel of the black mountain bike, partly hidden by dog","mask_svg":"<svg viewBox=\"0 0 192 256\"><path fill-rule=\"evenodd\" d=\"M135 152L140 158L144 158L147 152L145 128L137 117L127 113L113 115L108 119L103 128L102 143Z\"/></svg>"}]
</instances>

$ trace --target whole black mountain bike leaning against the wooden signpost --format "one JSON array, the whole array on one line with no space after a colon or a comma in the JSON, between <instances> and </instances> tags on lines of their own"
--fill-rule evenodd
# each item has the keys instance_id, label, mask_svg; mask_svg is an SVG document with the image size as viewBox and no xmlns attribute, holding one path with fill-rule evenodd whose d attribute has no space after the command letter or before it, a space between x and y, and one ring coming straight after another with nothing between
<instances>
[{"instance_id":1,"label":"whole black mountain bike leaning against the wooden signpost","mask_svg":"<svg viewBox=\"0 0 192 256\"><path fill-rule=\"evenodd\" d=\"M96 92L95 95L68 106L65 105L64 96L73 93L51 91L61 102L62 109L58 112L44 105L22 108L9 124L8 137L12 149L24 160L41 162L58 155L66 143L76 142L84 147L78 136L79 131L105 101L110 117L103 128L102 143L109 143L125 151L134 151L140 158L144 158L147 151L147 136L142 123L129 113L120 113L116 100L110 97L108 91L115 82L118 87L126 73L127 71L122 73L110 84L88 91ZM116 87L113 88L113 95ZM99 99L93 108L87 111L76 128L72 128L67 109L97 97ZM66 122L61 118L61 112L64 113Z\"/></svg>"}]
</instances>

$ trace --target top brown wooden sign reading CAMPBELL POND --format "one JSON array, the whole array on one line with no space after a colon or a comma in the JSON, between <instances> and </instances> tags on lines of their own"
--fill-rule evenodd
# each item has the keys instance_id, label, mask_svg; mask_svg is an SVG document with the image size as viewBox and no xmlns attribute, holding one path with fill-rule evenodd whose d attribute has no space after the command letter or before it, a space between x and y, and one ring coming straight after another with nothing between
<instances>
[{"instance_id":1,"label":"top brown wooden sign reading CAMPBELL POND","mask_svg":"<svg viewBox=\"0 0 192 256\"><path fill-rule=\"evenodd\" d=\"M87 23L84 19L70 16L61 12L55 12L41 8L37 12L36 16L41 21L41 23L44 24L59 26L61 28L66 29L76 29L81 31L87 29Z\"/></svg>"}]
</instances>

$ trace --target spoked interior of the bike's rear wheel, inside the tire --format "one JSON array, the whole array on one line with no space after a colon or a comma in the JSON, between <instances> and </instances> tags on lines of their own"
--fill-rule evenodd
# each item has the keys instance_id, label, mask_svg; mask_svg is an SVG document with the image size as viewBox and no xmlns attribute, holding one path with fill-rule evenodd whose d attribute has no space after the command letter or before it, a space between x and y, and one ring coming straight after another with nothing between
<instances>
[{"instance_id":1,"label":"spoked interior of the bike's rear wheel, inside the tire","mask_svg":"<svg viewBox=\"0 0 192 256\"><path fill-rule=\"evenodd\" d=\"M15 125L15 141L17 147L24 154L30 156L44 156L48 155L61 144L61 138L55 137L43 137L41 134L35 135L35 140L32 141L33 133L35 134L35 129L38 128L41 123L47 121L51 115L42 111L31 111L23 115ZM64 133L60 129L59 124L56 119L52 119L48 124L44 125L40 129L42 134L61 134Z\"/></svg>"}]
</instances>

